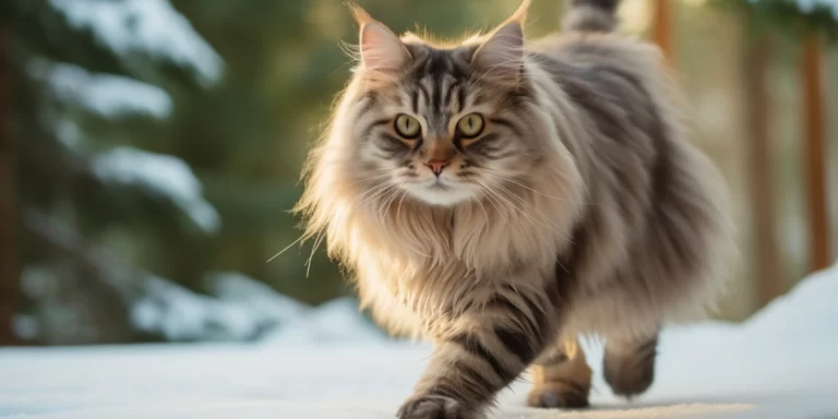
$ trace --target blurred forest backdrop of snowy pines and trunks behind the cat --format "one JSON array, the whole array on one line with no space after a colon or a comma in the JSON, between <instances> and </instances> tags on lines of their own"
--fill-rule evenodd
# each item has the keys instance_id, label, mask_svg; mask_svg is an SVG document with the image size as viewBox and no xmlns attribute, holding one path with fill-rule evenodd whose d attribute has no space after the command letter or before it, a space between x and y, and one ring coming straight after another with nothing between
<instances>
[{"instance_id":1,"label":"blurred forest backdrop of snowy pines and trunks behind the cat","mask_svg":"<svg viewBox=\"0 0 838 419\"><path fill-rule=\"evenodd\" d=\"M443 37L519 3L358 2ZM733 190L721 319L835 260L835 3L623 1L622 31L661 46L691 140ZM563 5L535 0L528 35ZM339 0L0 0L0 345L254 340L355 308L322 249L271 260L300 235L301 161L349 75Z\"/></svg>"}]
</instances>

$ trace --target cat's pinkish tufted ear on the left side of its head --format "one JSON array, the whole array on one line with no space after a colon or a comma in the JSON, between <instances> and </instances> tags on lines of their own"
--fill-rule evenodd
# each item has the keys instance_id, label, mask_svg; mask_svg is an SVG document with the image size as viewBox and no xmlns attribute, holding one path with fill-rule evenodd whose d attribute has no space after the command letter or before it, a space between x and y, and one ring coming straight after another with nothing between
<instances>
[{"instance_id":1,"label":"cat's pinkish tufted ear on the left side of its head","mask_svg":"<svg viewBox=\"0 0 838 419\"><path fill-rule=\"evenodd\" d=\"M359 48L363 68L387 75L395 75L404 69L410 59L410 52L402 39L354 1L347 1L347 4L361 27Z\"/></svg>"}]
</instances>

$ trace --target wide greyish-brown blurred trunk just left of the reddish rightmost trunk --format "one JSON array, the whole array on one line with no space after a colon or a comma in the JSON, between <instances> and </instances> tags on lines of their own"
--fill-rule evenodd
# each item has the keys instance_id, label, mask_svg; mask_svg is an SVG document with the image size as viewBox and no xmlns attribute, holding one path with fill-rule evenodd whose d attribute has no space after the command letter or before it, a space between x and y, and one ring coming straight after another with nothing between
<instances>
[{"instance_id":1,"label":"wide greyish-brown blurred trunk just left of the reddish rightmost trunk","mask_svg":"<svg viewBox=\"0 0 838 419\"><path fill-rule=\"evenodd\" d=\"M771 164L770 97L767 92L770 44L768 34L747 16L751 41L743 55L747 101L749 157L751 158L751 220L754 237L754 274L758 307L786 291L782 258L777 242L777 216Z\"/></svg>"}]
</instances>

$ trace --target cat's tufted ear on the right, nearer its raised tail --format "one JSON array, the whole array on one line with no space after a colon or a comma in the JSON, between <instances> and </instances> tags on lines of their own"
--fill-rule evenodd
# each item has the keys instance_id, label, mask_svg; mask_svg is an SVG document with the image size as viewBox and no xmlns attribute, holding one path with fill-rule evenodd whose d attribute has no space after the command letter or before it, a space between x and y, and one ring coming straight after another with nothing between
<instances>
[{"instance_id":1,"label":"cat's tufted ear on the right, nearer its raised tail","mask_svg":"<svg viewBox=\"0 0 838 419\"><path fill-rule=\"evenodd\" d=\"M524 0L506 22L498 26L472 58L474 65L488 77L517 84L524 69L524 21L530 0Z\"/></svg>"}]
</instances>

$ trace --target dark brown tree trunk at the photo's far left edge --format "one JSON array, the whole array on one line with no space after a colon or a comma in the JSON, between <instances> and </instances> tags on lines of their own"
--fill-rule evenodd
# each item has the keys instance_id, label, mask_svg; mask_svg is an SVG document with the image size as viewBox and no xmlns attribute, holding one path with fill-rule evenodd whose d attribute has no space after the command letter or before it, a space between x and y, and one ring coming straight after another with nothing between
<instances>
[{"instance_id":1,"label":"dark brown tree trunk at the photo's far left edge","mask_svg":"<svg viewBox=\"0 0 838 419\"><path fill-rule=\"evenodd\" d=\"M16 342L12 327L17 297L16 200L11 128L11 36L0 26L0 345Z\"/></svg>"}]
</instances>

